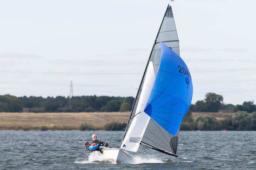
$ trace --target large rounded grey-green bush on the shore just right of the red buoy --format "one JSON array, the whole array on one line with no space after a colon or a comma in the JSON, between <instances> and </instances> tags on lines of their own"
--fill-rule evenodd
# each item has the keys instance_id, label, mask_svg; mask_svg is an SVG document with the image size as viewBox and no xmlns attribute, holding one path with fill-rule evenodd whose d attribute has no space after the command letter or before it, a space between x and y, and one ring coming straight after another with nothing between
<instances>
[{"instance_id":1,"label":"large rounded grey-green bush on the shore just right of the red buoy","mask_svg":"<svg viewBox=\"0 0 256 170\"><path fill-rule=\"evenodd\" d=\"M245 111L238 111L233 116L232 124L235 130L251 130L252 117Z\"/></svg>"}]
</instances>

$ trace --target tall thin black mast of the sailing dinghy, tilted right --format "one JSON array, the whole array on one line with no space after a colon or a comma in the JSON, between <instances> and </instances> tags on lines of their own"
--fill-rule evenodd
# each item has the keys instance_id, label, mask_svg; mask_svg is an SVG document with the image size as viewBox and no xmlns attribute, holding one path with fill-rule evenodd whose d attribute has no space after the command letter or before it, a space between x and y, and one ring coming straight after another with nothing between
<instances>
[{"instance_id":1,"label":"tall thin black mast of the sailing dinghy, tilted right","mask_svg":"<svg viewBox=\"0 0 256 170\"><path fill-rule=\"evenodd\" d=\"M169 7L169 4L167 5L167 8L166 8L166 10L165 10L164 17L165 17L166 11L168 10L168 7ZM152 55L152 51L153 51L154 46L155 46L155 44L156 44L156 39L157 39L157 37L158 37L159 31L160 31L161 26L162 26L162 24L163 24L164 17L163 17L162 22L161 22L161 25L160 25L160 27L159 27L159 29L158 29L158 32L157 32L157 35L156 35L156 38L155 38L154 44L153 44L153 46L152 46L152 49L151 49L150 55L149 55L149 57L148 57L148 62L147 62L146 68L145 68L144 73L143 73L143 76L142 76L142 78L141 78L140 86L139 86L139 89L138 89L138 91L137 91L137 94L136 94L135 100L134 100L133 105L132 105L132 110L131 110L131 114L130 114L130 117L129 117L129 121L128 121L127 126L126 126L126 128L125 128L124 137L125 137L125 135L126 135L126 133L127 133L127 130L128 130L128 128L127 128L127 127L129 126L129 123L130 123L130 121L131 121L132 112L133 112L133 109L134 109L134 107L135 107L136 100L137 100L137 98L138 98L138 94L139 94L140 89L141 89L142 81L143 81L143 79L144 79L144 77L145 77L145 74L146 74L146 71L147 71L147 69L148 69L148 63L149 63L149 61L150 61L150 57L151 57L151 55ZM122 141L124 140L124 137L123 137Z\"/></svg>"}]
</instances>

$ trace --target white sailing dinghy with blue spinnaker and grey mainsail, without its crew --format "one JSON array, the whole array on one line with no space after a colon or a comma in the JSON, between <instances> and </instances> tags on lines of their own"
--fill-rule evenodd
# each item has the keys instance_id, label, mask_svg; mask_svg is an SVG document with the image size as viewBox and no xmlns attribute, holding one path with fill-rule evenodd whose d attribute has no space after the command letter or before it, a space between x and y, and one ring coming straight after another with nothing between
<instances>
[{"instance_id":1,"label":"white sailing dinghy with blue spinnaker and grey mainsail, without its crew","mask_svg":"<svg viewBox=\"0 0 256 170\"><path fill-rule=\"evenodd\" d=\"M159 28L119 149L103 149L105 158L129 163L140 145L177 157L180 124L191 104L190 72L180 58L179 40L168 5ZM124 151L125 150L125 151Z\"/></svg>"}]
</instances>

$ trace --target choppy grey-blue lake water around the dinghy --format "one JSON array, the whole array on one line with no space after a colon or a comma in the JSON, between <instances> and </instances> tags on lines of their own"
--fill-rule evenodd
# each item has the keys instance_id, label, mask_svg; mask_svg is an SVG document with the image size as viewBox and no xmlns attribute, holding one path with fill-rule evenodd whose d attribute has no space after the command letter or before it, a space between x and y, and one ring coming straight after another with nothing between
<instances>
[{"instance_id":1,"label":"choppy grey-blue lake water around the dinghy","mask_svg":"<svg viewBox=\"0 0 256 170\"><path fill-rule=\"evenodd\" d=\"M133 164L113 164L86 152L93 133L109 131L0 131L0 169L256 169L256 131L180 131L175 158L140 146ZM112 131L117 148L123 132Z\"/></svg>"}]
</instances>

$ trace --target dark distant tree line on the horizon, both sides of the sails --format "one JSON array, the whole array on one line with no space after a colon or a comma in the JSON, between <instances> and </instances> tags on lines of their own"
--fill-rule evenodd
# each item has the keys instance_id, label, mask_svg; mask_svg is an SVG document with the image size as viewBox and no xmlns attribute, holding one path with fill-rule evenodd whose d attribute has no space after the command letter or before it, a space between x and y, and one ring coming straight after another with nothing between
<instances>
[{"instance_id":1,"label":"dark distant tree line on the horizon, both sides of the sails","mask_svg":"<svg viewBox=\"0 0 256 170\"><path fill-rule=\"evenodd\" d=\"M16 97L9 94L0 95L0 112L121 112L131 111L134 102L133 97L110 96L56 96ZM256 111L256 105L252 101L245 101L243 105L223 103L222 95L207 93L204 100L191 104L192 112L237 112Z\"/></svg>"}]
</instances>

